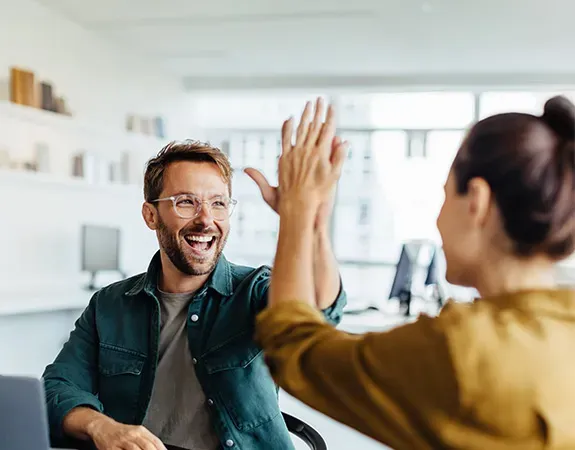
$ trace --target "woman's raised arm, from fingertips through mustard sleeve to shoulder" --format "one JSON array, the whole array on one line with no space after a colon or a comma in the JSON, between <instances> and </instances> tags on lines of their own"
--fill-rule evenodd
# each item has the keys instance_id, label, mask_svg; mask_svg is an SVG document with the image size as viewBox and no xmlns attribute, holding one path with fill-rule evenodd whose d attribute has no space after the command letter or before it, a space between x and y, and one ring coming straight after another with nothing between
<instances>
[{"instance_id":1,"label":"woman's raised arm, from fingertips through mustard sleeve to shoulder","mask_svg":"<svg viewBox=\"0 0 575 450\"><path fill-rule=\"evenodd\" d=\"M335 125L308 104L292 145L282 130L280 231L269 306L256 338L276 382L298 399L394 448L434 448L432 409L456 405L447 345L430 319L390 333L351 336L328 325L316 306L313 249L318 208L339 178L345 147L331 152ZM345 145L345 144L344 144ZM434 425L450 414L440 414Z\"/></svg>"}]
</instances>

